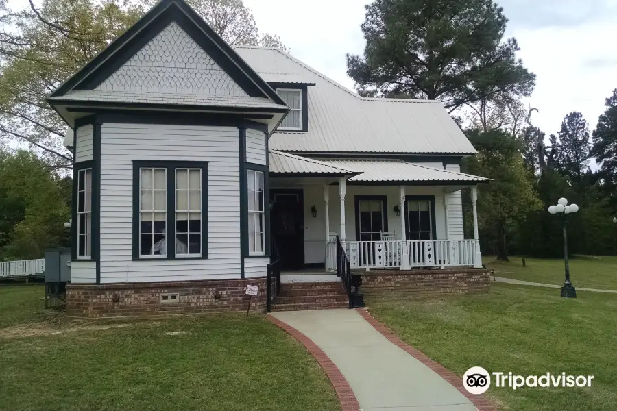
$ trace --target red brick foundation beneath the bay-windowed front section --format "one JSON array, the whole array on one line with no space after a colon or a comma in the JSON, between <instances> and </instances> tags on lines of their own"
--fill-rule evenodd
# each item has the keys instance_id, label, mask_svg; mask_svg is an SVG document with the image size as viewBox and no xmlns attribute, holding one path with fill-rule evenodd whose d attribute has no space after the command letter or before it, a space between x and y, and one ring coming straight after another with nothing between
<instances>
[{"instance_id":1,"label":"red brick foundation beneath the bay-windowed front section","mask_svg":"<svg viewBox=\"0 0 617 411\"><path fill-rule=\"evenodd\" d=\"M266 279L212 279L189 282L69 284L66 316L99 319L125 316L164 316L201 312L246 311L247 284L258 286L251 312L266 310ZM178 293L178 302L162 303L160 294Z\"/></svg>"}]
</instances>

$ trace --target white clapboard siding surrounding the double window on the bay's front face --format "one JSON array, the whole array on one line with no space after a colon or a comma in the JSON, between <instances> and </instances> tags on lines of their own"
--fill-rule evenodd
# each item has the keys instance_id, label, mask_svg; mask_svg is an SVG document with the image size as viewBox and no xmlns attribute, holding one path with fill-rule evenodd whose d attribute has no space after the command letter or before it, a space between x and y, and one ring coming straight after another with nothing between
<instances>
[{"instance_id":1,"label":"white clapboard siding surrounding the double window on the bay's front face","mask_svg":"<svg viewBox=\"0 0 617 411\"><path fill-rule=\"evenodd\" d=\"M105 123L101 134L101 282L239 278L237 127ZM208 162L207 260L133 261L132 160Z\"/></svg>"}]
</instances>

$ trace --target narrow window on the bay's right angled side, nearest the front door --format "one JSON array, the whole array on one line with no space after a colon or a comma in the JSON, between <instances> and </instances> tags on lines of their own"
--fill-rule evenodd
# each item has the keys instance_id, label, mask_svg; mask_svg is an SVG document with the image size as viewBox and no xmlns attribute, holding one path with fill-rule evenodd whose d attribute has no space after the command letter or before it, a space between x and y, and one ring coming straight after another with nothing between
<instances>
[{"instance_id":1,"label":"narrow window on the bay's right angled side, nearest the front door","mask_svg":"<svg viewBox=\"0 0 617 411\"><path fill-rule=\"evenodd\" d=\"M265 254L263 173L254 170L247 173L249 255L258 256Z\"/></svg>"}]
</instances>

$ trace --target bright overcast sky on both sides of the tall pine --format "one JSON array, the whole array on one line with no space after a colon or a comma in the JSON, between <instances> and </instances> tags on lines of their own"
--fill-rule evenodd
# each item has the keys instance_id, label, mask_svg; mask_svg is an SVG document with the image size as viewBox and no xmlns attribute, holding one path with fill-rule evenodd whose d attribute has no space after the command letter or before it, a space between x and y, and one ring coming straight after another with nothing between
<instances>
[{"instance_id":1,"label":"bright overcast sky on both sides of the tall pine","mask_svg":"<svg viewBox=\"0 0 617 411\"><path fill-rule=\"evenodd\" d=\"M345 53L362 53L365 0L244 0L262 32L278 34L291 54L336 82L347 77ZM617 88L617 0L500 0L519 57L537 75L531 121L546 134L569 112L594 129ZM293 4L293 9L290 7Z\"/></svg>"}]
</instances>

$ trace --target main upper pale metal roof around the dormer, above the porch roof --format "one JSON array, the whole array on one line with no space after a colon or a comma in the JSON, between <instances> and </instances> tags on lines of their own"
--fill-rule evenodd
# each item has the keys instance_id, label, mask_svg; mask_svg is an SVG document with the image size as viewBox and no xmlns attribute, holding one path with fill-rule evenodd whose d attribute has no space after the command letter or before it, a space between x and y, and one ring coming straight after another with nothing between
<instances>
[{"instance_id":1,"label":"main upper pale metal roof around the dormer, above the porch roof","mask_svg":"<svg viewBox=\"0 0 617 411\"><path fill-rule=\"evenodd\" d=\"M372 99L273 48L235 47L268 82L314 83L309 88L309 132L275 132L270 147L294 152L476 153L439 101ZM343 58L343 56L341 56Z\"/></svg>"}]
</instances>

